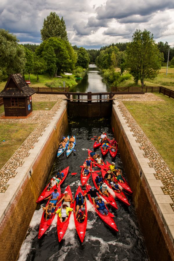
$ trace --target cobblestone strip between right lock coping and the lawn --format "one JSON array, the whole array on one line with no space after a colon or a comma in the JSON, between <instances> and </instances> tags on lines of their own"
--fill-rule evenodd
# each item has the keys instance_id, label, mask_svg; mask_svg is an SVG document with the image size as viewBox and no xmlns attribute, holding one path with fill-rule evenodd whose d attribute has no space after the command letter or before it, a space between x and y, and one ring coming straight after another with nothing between
<instances>
[{"instance_id":1,"label":"cobblestone strip between right lock coping and the lawn","mask_svg":"<svg viewBox=\"0 0 174 261\"><path fill-rule=\"evenodd\" d=\"M131 128L131 131L134 133L134 137L137 138L136 142L140 143L140 149L144 150L144 157L148 158L150 162L148 163L151 168L154 168L157 174L154 174L157 180L161 180L164 187L162 190L165 195L170 195L174 202L174 175L153 147L149 139L146 137L142 129L139 127L135 119L129 113L124 104L119 101L119 109L128 123L128 127ZM174 204L171 204L171 207L174 211Z\"/></svg>"}]
</instances>

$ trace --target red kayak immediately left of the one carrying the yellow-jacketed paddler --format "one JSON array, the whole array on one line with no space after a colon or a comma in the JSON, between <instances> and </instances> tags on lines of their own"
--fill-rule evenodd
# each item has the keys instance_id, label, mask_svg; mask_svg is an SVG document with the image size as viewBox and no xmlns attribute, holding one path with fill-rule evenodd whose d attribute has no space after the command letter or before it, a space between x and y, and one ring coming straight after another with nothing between
<instances>
[{"instance_id":1,"label":"red kayak immediately left of the one carrying the yellow-jacketed paddler","mask_svg":"<svg viewBox=\"0 0 174 261\"><path fill-rule=\"evenodd\" d=\"M61 194L61 191L60 191L60 186L58 186L57 188L57 192L59 193L59 198L57 200L57 202L59 201L60 199L60 194ZM48 206L50 202L50 199L48 200L46 206ZM55 217L55 212L57 211L57 208L55 208L55 211L50 215L49 219L46 220L46 216L45 216L45 211L43 212L42 214L42 217L41 217L41 223L40 223L40 226L39 226L39 235L38 235L38 238L40 239L44 233L47 231L47 229L50 227L54 217Z\"/></svg>"}]
</instances>

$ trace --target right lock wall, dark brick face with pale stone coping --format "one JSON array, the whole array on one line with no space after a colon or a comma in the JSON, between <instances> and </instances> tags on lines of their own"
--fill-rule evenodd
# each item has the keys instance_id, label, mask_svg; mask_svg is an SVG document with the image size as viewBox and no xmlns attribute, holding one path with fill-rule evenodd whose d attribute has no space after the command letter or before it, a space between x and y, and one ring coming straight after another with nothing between
<instances>
[{"instance_id":1,"label":"right lock wall, dark brick face with pale stone coping","mask_svg":"<svg viewBox=\"0 0 174 261\"><path fill-rule=\"evenodd\" d=\"M128 127L118 102L113 105L111 125L133 191L133 201L149 257L151 260L174 260L174 212L170 205L173 201L169 195L164 195L161 189L163 184L155 178L156 171L149 166L150 160L140 143L136 142L137 137ZM170 222L167 221L169 217Z\"/></svg>"}]
</instances>

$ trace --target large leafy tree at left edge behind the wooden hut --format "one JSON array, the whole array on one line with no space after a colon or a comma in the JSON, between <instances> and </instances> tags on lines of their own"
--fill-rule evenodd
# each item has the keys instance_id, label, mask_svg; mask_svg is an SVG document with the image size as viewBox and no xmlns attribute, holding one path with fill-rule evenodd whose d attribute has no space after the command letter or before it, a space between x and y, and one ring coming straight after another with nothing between
<instances>
[{"instance_id":1,"label":"large leafy tree at left edge behind the wooden hut","mask_svg":"<svg viewBox=\"0 0 174 261\"><path fill-rule=\"evenodd\" d=\"M23 74L25 49L19 40L9 31L0 29L0 80L6 80L10 74Z\"/></svg>"}]
</instances>

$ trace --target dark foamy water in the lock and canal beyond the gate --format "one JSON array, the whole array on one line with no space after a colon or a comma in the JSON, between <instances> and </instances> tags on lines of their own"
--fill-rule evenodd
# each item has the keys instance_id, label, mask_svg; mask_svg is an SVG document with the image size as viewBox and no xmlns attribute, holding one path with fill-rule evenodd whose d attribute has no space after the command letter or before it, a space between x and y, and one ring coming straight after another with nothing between
<instances>
[{"instance_id":1,"label":"dark foamy water in the lock and canal beyond the gate","mask_svg":"<svg viewBox=\"0 0 174 261\"><path fill-rule=\"evenodd\" d=\"M93 68L93 70L94 69L95 68ZM89 82L89 89L86 87L85 91L96 91L96 89L94 90L93 86L95 85L93 85L94 83L92 83L92 81L95 83L98 82L98 84L101 84L101 88L107 90L107 86L102 83L101 77L97 72L89 72L87 80ZM77 86L76 88L78 90L80 87ZM99 86L97 88L98 91ZM101 89L99 91L101 91ZM101 134L103 131L107 133L108 137L112 138L113 133L110 126L110 119L81 119L69 117L68 122L69 125L65 135L76 136L76 151L71 153L68 158L65 153L55 159L48 180L57 173L58 169L62 170L69 166L70 173L61 186L61 192L64 192L66 186L70 185L74 195L77 187L81 185L80 174L72 176L71 173L80 172L81 169L79 166L84 163L84 160L88 156L87 149L93 148L94 141L91 140L91 138ZM101 155L100 148L98 148L96 152ZM107 154L103 160L105 162L106 160L109 162L113 161L109 154ZM119 152L114 162L124 173ZM92 185L91 177L89 184ZM26 239L22 244L19 260L149 260L132 198L131 196L127 197L131 206L127 207L118 200L116 200L118 210L114 210L109 206L110 212L115 215L114 220L119 229L117 233L113 232L100 220L93 206L87 200L88 223L86 236L82 244L75 229L73 214L70 216L70 223L61 243L58 242L57 238L57 215L55 215L47 233L38 240L39 224L42 215L41 206L38 206L30 222ZM45 203L46 202L43 202L43 204Z\"/></svg>"}]
</instances>

